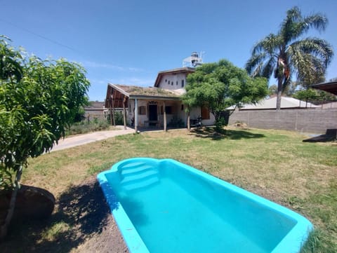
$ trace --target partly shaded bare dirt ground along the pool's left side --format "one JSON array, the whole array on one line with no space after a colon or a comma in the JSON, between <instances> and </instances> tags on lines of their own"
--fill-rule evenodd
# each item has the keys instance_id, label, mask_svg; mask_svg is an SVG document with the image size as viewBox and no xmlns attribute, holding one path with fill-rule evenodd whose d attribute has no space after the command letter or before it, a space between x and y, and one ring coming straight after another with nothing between
<instances>
[{"instance_id":1,"label":"partly shaded bare dirt ground along the pool's left side","mask_svg":"<svg viewBox=\"0 0 337 253\"><path fill-rule=\"evenodd\" d=\"M55 233L44 233L47 228ZM13 224L0 242L0 252L126 253L128 249L92 176L62 193L47 220Z\"/></svg>"}]
</instances>

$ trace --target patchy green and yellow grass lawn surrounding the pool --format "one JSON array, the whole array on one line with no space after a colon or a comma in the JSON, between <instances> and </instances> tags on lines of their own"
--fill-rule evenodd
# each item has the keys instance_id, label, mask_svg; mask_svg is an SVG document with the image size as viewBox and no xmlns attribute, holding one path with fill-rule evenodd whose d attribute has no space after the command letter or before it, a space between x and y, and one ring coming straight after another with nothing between
<instances>
[{"instance_id":1,"label":"patchy green and yellow grass lawn surrounding the pool","mask_svg":"<svg viewBox=\"0 0 337 253\"><path fill-rule=\"evenodd\" d=\"M296 132L236 128L227 128L222 135L211 128L124 135L31 159L22 183L51 191L58 201L55 209L69 213L76 200L70 196L90 195L93 189L83 182L113 163L136 156L173 158L308 217L317 229L303 252L337 252L337 145L304 143L305 138ZM79 184L81 188L76 188ZM93 203L103 201L91 197ZM90 212L95 212L94 206ZM11 233L26 244L48 242L50 252L62 252L62 236L77 226L65 213L56 212L48 224L28 222ZM72 250L77 249L68 247L67 252Z\"/></svg>"}]
</instances>

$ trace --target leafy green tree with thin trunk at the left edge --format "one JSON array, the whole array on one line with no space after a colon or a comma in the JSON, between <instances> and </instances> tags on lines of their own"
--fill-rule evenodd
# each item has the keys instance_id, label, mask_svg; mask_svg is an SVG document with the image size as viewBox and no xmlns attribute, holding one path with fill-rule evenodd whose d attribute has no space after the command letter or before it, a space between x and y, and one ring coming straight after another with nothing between
<instances>
[{"instance_id":1,"label":"leafy green tree with thin trunk at the left edge","mask_svg":"<svg viewBox=\"0 0 337 253\"><path fill-rule=\"evenodd\" d=\"M9 46L8 39L0 41L0 52L4 53L0 76L0 190L13 189L6 222L0 227L3 237L13 215L22 167L27 166L29 157L50 151L65 136L65 129L86 102L90 83L78 64L25 58L20 50Z\"/></svg>"}]
</instances>

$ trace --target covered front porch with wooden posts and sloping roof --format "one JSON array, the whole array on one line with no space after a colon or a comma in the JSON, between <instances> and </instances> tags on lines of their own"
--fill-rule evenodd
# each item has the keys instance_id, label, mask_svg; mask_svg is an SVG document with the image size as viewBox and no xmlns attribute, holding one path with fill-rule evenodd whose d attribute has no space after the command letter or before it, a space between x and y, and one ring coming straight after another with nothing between
<instances>
[{"instance_id":1,"label":"covered front porch with wooden posts and sloping roof","mask_svg":"<svg viewBox=\"0 0 337 253\"><path fill-rule=\"evenodd\" d=\"M187 125L180 95L170 90L109 84L105 108L112 125L116 124L115 112L121 111L124 128L131 125L136 132L152 128L166 131Z\"/></svg>"}]
</instances>

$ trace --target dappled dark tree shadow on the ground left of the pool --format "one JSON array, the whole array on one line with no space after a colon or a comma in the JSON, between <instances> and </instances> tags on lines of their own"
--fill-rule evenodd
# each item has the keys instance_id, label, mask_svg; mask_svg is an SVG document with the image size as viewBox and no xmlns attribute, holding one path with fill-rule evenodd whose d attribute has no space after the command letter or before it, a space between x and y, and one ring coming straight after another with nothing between
<instances>
[{"instance_id":1,"label":"dappled dark tree shadow on the ground left of the pool","mask_svg":"<svg viewBox=\"0 0 337 253\"><path fill-rule=\"evenodd\" d=\"M98 182L72 186L58 198L48 219L13 224L1 252L70 252L101 233L109 214Z\"/></svg>"}]
</instances>

